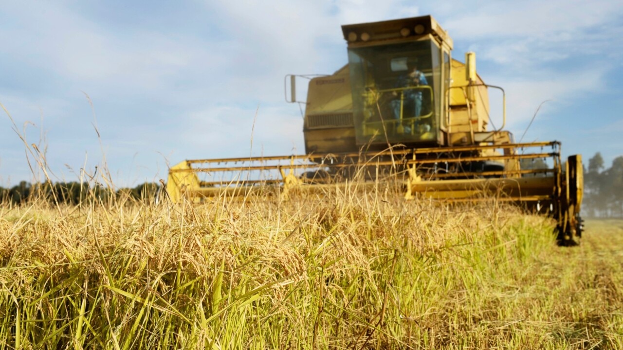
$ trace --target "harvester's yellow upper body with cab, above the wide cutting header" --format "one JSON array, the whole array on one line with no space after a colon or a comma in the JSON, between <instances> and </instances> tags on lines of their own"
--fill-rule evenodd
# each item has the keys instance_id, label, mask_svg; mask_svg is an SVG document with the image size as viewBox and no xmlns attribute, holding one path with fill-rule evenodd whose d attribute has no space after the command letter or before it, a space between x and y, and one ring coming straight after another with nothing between
<instances>
[{"instance_id":1,"label":"harvester's yellow upper body with cab, above the wide cutting header","mask_svg":"<svg viewBox=\"0 0 623 350\"><path fill-rule=\"evenodd\" d=\"M497 132L487 130L489 86L475 72L475 54L466 55L467 66L452 60L452 39L433 17L351 24L342 32L348 64L308 88L306 153L511 142L504 121Z\"/></svg>"}]
</instances>

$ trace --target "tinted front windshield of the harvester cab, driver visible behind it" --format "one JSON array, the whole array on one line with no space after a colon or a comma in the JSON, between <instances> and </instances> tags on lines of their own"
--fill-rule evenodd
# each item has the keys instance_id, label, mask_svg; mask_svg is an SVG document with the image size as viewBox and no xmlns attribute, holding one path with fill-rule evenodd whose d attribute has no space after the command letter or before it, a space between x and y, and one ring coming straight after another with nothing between
<instances>
[{"instance_id":1,"label":"tinted front windshield of the harvester cab, driver visible behind it","mask_svg":"<svg viewBox=\"0 0 623 350\"><path fill-rule=\"evenodd\" d=\"M421 40L351 48L348 63L358 144L437 140L441 104L436 44Z\"/></svg>"}]
</instances>

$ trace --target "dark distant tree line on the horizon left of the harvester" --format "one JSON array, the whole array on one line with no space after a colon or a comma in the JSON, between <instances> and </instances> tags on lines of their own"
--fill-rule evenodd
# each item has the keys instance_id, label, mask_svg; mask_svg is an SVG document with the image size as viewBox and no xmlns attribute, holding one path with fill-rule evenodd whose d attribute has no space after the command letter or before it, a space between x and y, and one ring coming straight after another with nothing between
<instances>
[{"instance_id":1,"label":"dark distant tree line on the horizon left of the harvester","mask_svg":"<svg viewBox=\"0 0 623 350\"><path fill-rule=\"evenodd\" d=\"M43 200L52 203L80 204L87 199L106 202L111 199L134 199L145 201L154 199L161 187L154 182L145 182L133 188L111 190L102 184L91 186L88 182L42 182L31 184L21 181L11 188L0 187L0 203L22 204L28 201Z\"/></svg>"}]
</instances>

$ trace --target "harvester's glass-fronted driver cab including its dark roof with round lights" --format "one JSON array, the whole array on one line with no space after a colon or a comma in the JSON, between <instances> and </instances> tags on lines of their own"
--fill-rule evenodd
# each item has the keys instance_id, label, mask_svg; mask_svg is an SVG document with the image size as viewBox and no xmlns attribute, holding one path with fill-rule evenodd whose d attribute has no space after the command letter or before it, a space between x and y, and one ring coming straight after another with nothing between
<instances>
[{"instance_id":1,"label":"harvester's glass-fronted driver cab including its dark roof with round lights","mask_svg":"<svg viewBox=\"0 0 623 350\"><path fill-rule=\"evenodd\" d=\"M449 85L452 42L434 19L355 24L342 31L356 144L444 144L442 92Z\"/></svg>"}]
</instances>

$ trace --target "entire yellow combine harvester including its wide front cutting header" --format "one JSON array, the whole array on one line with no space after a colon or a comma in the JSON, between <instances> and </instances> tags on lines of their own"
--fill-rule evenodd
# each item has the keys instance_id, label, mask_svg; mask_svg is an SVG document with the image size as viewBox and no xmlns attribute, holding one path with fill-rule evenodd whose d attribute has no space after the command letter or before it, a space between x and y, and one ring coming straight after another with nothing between
<instances>
[{"instance_id":1,"label":"entire yellow combine harvester including its wide front cutting header","mask_svg":"<svg viewBox=\"0 0 623 350\"><path fill-rule=\"evenodd\" d=\"M452 39L431 16L342 31L348 64L309 82L305 155L183 161L169 171L171 199L287 197L392 184L407 199L513 201L557 220L561 244L578 242L581 156L563 163L558 141L515 143L503 130L504 91L477 75L473 52L465 64L452 59ZM289 102L296 102L297 76L288 77ZM489 88L502 96L497 127Z\"/></svg>"}]
</instances>

